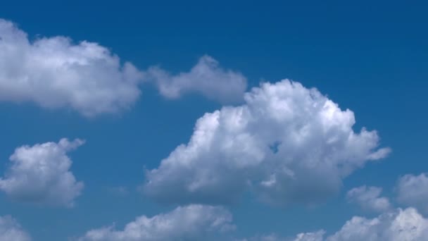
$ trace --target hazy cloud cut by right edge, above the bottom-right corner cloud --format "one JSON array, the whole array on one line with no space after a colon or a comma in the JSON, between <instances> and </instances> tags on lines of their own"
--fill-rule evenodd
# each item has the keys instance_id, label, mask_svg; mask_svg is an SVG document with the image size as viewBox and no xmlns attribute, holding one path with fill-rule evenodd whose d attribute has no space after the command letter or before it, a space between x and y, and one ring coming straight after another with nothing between
<instances>
[{"instance_id":1,"label":"hazy cloud cut by right edge, above the bottom-right corner cloud","mask_svg":"<svg viewBox=\"0 0 428 241\"><path fill-rule=\"evenodd\" d=\"M404 175L398 179L398 202L408 206L415 206L428 214L428 175Z\"/></svg>"}]
</instances>

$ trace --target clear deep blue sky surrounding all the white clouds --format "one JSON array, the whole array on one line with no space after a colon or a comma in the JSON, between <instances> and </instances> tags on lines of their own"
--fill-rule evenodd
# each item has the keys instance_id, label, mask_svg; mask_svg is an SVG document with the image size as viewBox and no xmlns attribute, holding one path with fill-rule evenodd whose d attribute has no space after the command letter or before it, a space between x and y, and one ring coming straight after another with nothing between
<instances>
[{"instance_id":1,"label":"clear deep blue sky surrounding all the white clouds","mask_svg":"<svg viewBox=\"0 0 428 241\"><path fill-rule=\"evenodd\" d=\"M351 188L382 187L394 203L401 175L428 171L427 11L423 1L17 0L1 4L0 18L16 23L29 39L62 35L76 44L97 42L140 70L186 72L207 54L244 75L248 89L289 78L351 109L355 132L377 130L380 147L391 147L389 156L354 171L338 194L316 206L278 208L245 194L227 209L236 236L252 237L334 232L352 216L376 216L346 201ZM32 101L0 101L0 173L16 147L62 137L86 140L69 154L73 174L84 182L73 208L15 202L1 194L0 215L13 216L34 240L67 240L170 211L174 204L138 191L144 168L157 168L189 141L197 118L221 106L201 94L166 99L152 85L141 85L130 109L94 118ZM115 193L117 187L127 193Z\"/></svg>"}]
</instances>

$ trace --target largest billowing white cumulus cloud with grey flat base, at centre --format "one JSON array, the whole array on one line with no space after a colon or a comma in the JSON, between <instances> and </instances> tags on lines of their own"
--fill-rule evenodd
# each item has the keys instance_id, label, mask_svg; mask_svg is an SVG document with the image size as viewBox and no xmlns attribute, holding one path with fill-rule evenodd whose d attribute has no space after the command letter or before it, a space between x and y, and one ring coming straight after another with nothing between
<instances>
[{"instance_id":1,"label":"largest billowing white cumulus cloud with grey flat base, at centre","mask_svg":"<svg viewBox=\"0 0 428 241\"><path fill-rule=\"evenodd\" d=\"M314 204L342 180L382 159L377 132L354 132L353 112L317 89L282 80L196 122L189 143L146 171L144 193L159 202L229 204L251 191L274 205Z\"/></svg>"}]
</instances>

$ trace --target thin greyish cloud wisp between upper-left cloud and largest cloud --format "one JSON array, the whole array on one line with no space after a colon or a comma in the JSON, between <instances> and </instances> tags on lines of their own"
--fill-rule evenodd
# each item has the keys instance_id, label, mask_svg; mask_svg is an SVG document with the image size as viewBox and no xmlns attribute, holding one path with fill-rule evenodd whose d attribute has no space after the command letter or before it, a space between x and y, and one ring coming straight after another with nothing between
<instances>
[{"instance_id":1,"label":"thin greyish cloud wisp between upper-left cloud and largest cloud","mask_svg":"<svg viewBox=\"0 0 428 241\"><path fill-rule=\"evenodd\" d=\"M187 73L170 75L165 70L152 67L146 74L160 94L169 99L195 92L222 103L236 103L244 97L247 85L244 75L220 68L218 61L210 56L201 57Z\"/></svg>"}]
</instances>

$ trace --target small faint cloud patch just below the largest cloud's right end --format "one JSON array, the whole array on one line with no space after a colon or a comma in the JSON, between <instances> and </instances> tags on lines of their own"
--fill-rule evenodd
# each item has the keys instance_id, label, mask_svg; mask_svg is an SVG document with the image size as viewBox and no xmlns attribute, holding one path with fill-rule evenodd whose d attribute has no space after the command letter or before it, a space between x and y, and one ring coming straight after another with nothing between
<instances>
[{"instance_id":1,"label":"small faint cloud patch just below the largest cloud's right end","mask_svg":"<svg viewBox=\"0 0 428 241\"><path fill-rule=\"evenodd\" d=\"M361 186L349 190L346 197L365 210L383 212L391 208L391 203L388 198L380 197L381 192L381 187Z\"/></svg>"}]
</instances>

